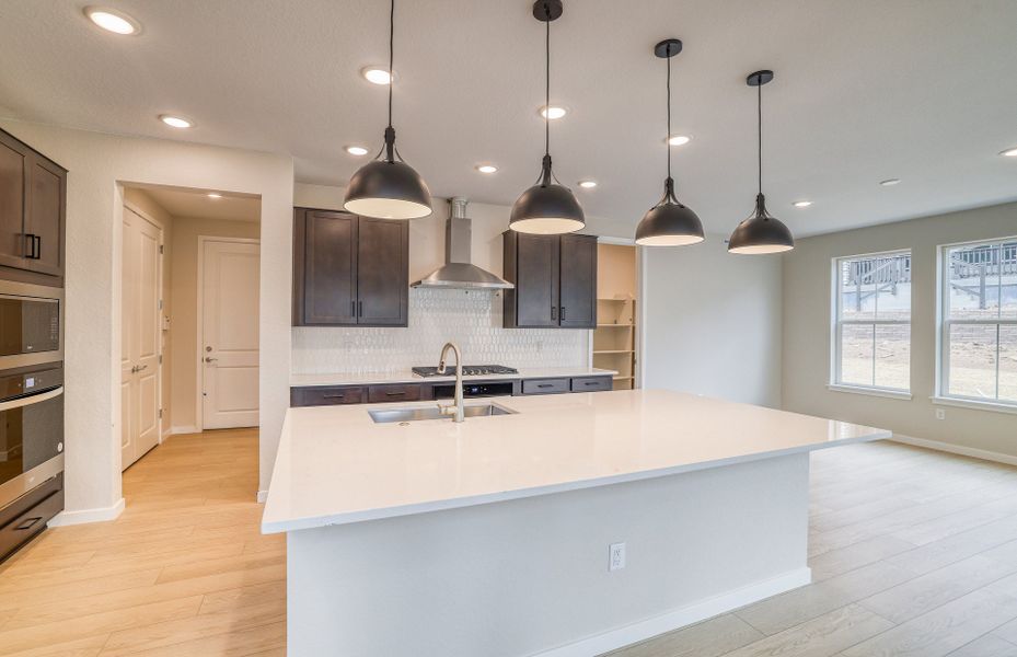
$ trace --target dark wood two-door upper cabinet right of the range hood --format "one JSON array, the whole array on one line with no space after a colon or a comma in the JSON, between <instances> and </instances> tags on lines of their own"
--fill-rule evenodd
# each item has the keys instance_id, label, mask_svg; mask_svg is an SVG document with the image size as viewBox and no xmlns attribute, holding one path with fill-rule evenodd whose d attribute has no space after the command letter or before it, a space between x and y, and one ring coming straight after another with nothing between
<instances>
[{"instance_id":1,"label":"dark wood two-door upper cabinet right of the range hood","mask_svg":"<svg viewBox=\"0 0 1017 657\"><path fill-rule=\"evenodd\" d=\"M597 238L504 234L506 328L597 326Z\"/></svg>"}]
</instances>

